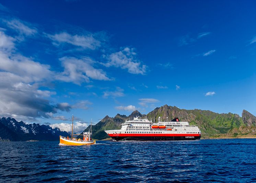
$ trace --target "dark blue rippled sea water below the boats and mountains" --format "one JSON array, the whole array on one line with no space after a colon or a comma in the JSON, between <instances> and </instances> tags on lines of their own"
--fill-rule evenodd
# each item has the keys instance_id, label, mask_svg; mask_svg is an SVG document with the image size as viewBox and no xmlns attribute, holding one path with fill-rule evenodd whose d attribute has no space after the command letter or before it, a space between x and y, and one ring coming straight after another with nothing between
<instances>
[{"instance_id":1,"label":"dark blue rippled sea water below the boats and mountains","mask_svg":"<svg viewBox=\"0 0 256 183\"><path fill-rule=\"evenodd\" d=\"M256 139L0 142L0 182L256 182Z\"/></svg>"}]
</instances>

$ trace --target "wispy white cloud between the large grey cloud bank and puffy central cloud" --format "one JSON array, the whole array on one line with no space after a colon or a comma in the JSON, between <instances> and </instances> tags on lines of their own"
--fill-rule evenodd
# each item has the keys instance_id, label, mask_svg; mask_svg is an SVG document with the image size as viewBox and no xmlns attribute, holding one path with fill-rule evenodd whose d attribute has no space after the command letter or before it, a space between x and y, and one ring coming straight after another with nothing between
<instances>
[{"instance_id":1,"label":"wispy white cloud between the large grey cloud bank and puffy central cloud","mask_svg":"<svg viewBox=\"0 0 256 183\"><path fill-rule=\"evenodd\" d=\"M80 85L83 82L93 80L110 81L106 73L101 69L95 69L92 65L95 63L92 59L84 57L77 59L74 57L62 57L59 59L64 71L56 75L56 79L65 82L73 82Z\"/></svg>"}]
</instances>

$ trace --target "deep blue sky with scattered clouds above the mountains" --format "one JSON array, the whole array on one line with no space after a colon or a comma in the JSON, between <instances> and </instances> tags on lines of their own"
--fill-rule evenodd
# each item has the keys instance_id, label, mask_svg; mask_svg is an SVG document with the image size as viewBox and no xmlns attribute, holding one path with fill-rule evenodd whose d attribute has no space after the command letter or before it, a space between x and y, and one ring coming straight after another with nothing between
<instances>
[{"instance_id":1,"label":"deep blue sky with scattered clouds above the mountains","mask_svg":"<svg viewBox=\"0 0 256 183\"><path fill-rule=\"evenodd\" d=\"M255 1L0 1L0 17L1 117L256 115Z\"/></svg>"}]
</instances>

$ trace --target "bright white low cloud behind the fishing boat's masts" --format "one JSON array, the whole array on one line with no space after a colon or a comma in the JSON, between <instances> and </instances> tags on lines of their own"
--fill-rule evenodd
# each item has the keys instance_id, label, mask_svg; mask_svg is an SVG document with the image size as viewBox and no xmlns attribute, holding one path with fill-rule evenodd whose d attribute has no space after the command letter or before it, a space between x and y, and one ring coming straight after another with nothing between
<instances>
[{"instance_id":1,"label":"bright white low cloud behind the fishing boat's masts","mask_svg":"<svg viewBox=\"0 0 256 183\"><path fill-rule=\"evenodd\" d=\"M52 128L58 127L61 131L72 132L72 123L55 123L50 124L49 126ZM73 133L80 134L84 131L84 129L86 129L86 127L88 127L88 123L84 123L81 121L74 122Z\"/></svg>"}]
</instances>

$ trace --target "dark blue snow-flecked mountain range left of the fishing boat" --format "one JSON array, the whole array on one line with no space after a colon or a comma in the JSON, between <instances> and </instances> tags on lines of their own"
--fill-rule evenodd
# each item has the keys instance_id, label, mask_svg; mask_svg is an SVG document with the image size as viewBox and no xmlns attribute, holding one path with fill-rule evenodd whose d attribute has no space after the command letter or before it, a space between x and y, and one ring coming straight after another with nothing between
<instances>
[{"instance_id":1,"label":"dark blue snow-flecked mountain range left of the fishing boat","mask_svg":"<svg viewBox=\"0 0 256 183\"><path fill-rule=\"evenodd\" d=\"M58 141L69 134L49 125L26 124L14 118L0 118L0 141Z\"/></svg>"}]
</instances>

